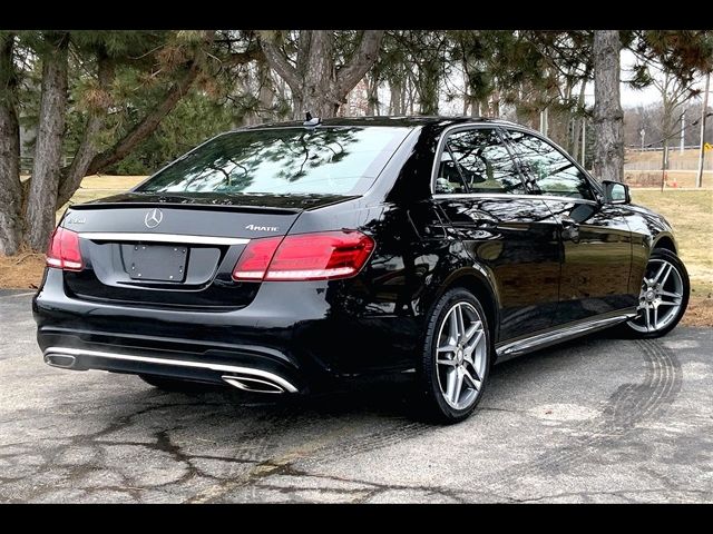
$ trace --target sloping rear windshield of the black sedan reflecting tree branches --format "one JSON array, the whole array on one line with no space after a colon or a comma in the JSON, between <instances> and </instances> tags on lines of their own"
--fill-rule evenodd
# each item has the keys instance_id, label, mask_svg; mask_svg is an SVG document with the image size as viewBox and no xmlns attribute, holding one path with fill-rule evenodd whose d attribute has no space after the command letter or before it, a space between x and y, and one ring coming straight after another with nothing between
<instances>
[{"instance_id":1,"label":"sloping rear windshield of the black sedan reflecting tree branches","mask_svg":"<svg viewBox=\"0 0 713 534\"><path fill-rule=\"evenodd\" d=\"M235 131L188 152L136 190L360 195L408 132L375 126Z\"/></svg>"}]
</instances>

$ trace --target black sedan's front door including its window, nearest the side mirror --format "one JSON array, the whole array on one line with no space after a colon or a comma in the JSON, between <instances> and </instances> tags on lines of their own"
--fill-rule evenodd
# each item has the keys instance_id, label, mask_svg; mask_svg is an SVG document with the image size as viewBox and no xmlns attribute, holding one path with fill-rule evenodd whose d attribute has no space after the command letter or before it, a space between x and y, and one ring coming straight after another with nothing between
<instances>
[{"instance_id":1,"label":"black sedan's front door including its window, nearest the side mirror","mask_svg":"<svg viewBox=\"0 0 713 534\"><path fill-rule=\"evenodd\" d=\"M587 174L551 142L517 129L507 136L529 185L559 224L563 269L555 324L631 306L632 236L621 210L603 204Z\"/></svg>"}]
</instances>

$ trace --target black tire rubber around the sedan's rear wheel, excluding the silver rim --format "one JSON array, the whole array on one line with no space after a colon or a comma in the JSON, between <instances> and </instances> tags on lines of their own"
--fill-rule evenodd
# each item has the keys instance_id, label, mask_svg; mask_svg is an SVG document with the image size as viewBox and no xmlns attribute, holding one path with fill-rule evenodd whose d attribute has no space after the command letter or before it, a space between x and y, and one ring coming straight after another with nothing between
<instances>
[{"instance_id":1,"label":"black tire rubber around the sedan's rear wheel, excluding the silver rim","mask_svg":"<svg viewBox=\"0 0 713 534\"><path fill-rule=\"evenodd\" d=\"M438 343L438 333L446 319L446 315L451 307L458 303L468 303L476 308L484 324L486 336L486 370L481 380L480 392L476 400L467 408L456 409L450 406L443 398L438 382L438 372L436 364L436 345ZM424 415L430 419L439 423L458 423L467 418L478 406L486 389L488 377L490 375L490 365L492 362L492 336L490 334L490 325L485 309L478 299L465 288L453 288L446 291L433 305L426 324L426 334L423 339L423 353L421 355L419 368L419 386L420 395L424 402Z\"/></svg>"}]
</instances>

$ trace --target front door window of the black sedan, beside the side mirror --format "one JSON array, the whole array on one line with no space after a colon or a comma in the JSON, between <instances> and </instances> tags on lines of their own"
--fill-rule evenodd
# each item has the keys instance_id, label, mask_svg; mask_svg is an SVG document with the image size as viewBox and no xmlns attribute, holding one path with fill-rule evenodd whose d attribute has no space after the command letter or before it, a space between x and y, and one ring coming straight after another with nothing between
<instances>
[{"instance_id":1,"label":"front door window of the black sedan, beside the side mirror","mask_svg":"<svg viewBox=\"0 0 713 534\"><path fill-rule=\"evenodd\" d=\"M549 142L521 131L510 131L510 141L524 171L538 192L594 200L585 174Z\"/></svg>"}]
</instances>

